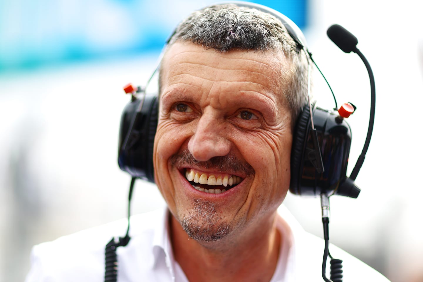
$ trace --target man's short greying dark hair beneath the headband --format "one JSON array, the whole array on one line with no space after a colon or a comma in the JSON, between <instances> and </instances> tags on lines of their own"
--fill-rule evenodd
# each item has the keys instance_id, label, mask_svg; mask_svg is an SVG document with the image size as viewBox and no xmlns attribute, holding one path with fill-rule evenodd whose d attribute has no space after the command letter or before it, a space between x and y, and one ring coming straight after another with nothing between
<instances>
[{"instance_id":1,"label":"man's short greying dark hair beneath the headband","mask_svg":"<svg viewBox=\"0 0 423 282\"><path fill-rule=\"evenodd\" d=\"M191 41L218 52L232 49L282 50L291 65L291 69L284 70L291 77L288 77L283 95L288 102L294 126L299 112L308 101L308 61L305 52L301 52L283 23L275 16L236 4L212 5L184 19L170 38L168 46L176 41Z\"/></svg>"}]
</instances>

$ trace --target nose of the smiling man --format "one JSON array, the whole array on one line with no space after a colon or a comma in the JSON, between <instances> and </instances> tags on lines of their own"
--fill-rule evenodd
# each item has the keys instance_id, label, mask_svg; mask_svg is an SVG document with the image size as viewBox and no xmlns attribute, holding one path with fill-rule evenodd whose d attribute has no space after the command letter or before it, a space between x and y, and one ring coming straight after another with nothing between
<instances>
[{"instance_id":1,"label":"nose of the smiling man","mask_svg":"<svg viewBox=\"0 0 423 282\"><path fill-rule=\"evenodd\" d=\"M226 126L225 121L213 113L203 113L188 142L188 150L192 156L200 162L206 162L215 156L226 156L231 150L231 142L225 136Z\"/></svg>"}]
</instances>

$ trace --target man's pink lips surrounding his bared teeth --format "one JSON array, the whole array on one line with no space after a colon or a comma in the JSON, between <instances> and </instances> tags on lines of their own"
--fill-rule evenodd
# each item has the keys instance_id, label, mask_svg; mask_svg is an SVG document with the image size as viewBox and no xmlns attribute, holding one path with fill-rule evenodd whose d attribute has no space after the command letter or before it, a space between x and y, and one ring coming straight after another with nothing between
<instances>
[{"instance_id":1,"label":"man's pink lips surrounding his bared teeth","mask_svg":"<svg viewBox=\"0 0 423 282\"><path fill-rule=\"evenodd\" d=\"M189 168L197 170L197 168L195 168L195 167L184 167L184 168L180 168L178 170L178 172L179 172L179 180L181 181L181 184L184 187L185 192L192 197L201 197L203 199L208 198L208 199L214 199L214 200L224 199L224 198L231 197L233 194L238 193L237 191L242 189L242 186L244 186L245 176L243 177L242 175L234 174L233 172L218 172L219 174L230 174L230 175L239 176L239 177L243 178L243 181L238 183L236 186L233 186L231 189L225 191L224 193L211 194L211 193L201 192L201 191L198 191L197 189L195 189L194 187L192 187L191 183L188 182L187 178L185 178L184 171L186 169L189 169ZM212 170L201 170L201 171L206 172L206 173L216 172L216 171L212 171Z\"/></svg>"}]
</instances>

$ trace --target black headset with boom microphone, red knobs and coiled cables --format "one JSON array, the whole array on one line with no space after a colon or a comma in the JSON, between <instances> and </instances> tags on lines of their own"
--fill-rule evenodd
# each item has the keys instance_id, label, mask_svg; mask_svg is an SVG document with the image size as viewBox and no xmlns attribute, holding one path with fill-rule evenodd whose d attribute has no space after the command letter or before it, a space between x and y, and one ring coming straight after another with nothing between
<instances>
[{"instance_id":1,"label":"black headset with boom microphone, red knobs and coiled cables","mask_svg":"<svg viewBox=\"0 0 423 282\"><path fill-rule=\"evenodd\" d=\"M351 147L351 129L345 118L354 112L355 106L346 103L338 109L333 92L332 95L335 100L335 108L333 110L325 110L316 107L315 103L312 104L310 102L310 61L314 63L319 71L320 69L308 51L305 37L301 30L286 16L266 6L247 2L233 2L233 4L255 8L275 16L283 23L291 38L296 42L298 52L305 52L307 57L308 103L302 107L294 127L289 190L297 195L321 197L325 241L321 274L326 282L341 282L342 260L334 259L328 249L328 197L337 194L357 198L360 193L360 189L354 184L354 181L364 162L373 131L376 101L373 72L364 55L356 47L357 38L340 25L332 25L327 30L327 35L343 52L355 52L360 56L367 68L371 86L371 107L367 137L354 169L351 175L347 177L346 169ZM157 69L148 80L147 85L152 77L157 74ZM117 279L116 248L118 246L126 246L130 240L129 214L135 179L142 178L154 183L153 147L158 121L158 93L157 91L148 93L147 88L133 88L132 85L126 85L124 90L126 93L131 93L132 98L122 112L118 164L121 170L128 172L132 176L132 181L129 189L128 229L126 235L119 237L118 241L112 238L105 248L104 281L110 282L114 282ZM330 90L332 91L332 89ZM330 279L326 277L326 260L328 256L332 259L330 261Z\"/></svg>"}]
</instances>

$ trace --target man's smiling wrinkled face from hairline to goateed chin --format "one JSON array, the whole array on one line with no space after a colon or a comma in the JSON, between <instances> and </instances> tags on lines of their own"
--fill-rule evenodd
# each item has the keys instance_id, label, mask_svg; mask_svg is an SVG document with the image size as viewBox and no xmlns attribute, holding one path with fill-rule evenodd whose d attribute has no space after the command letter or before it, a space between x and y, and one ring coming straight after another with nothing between
<instances>
[{"instance_id":1,"label":"man's smiling wrinkled face from hairline to goateed chin","mask_svg":"<svg viewBox=\"0 0 423 282\"><path fill-rule=\"evenodd\" d=\"M288 69L282 51L219 53L176 42L166 52L155 181L192 238L213 241L261 228L285 198Z\"/></svg>"}]
</instances>

